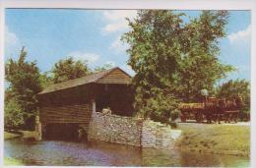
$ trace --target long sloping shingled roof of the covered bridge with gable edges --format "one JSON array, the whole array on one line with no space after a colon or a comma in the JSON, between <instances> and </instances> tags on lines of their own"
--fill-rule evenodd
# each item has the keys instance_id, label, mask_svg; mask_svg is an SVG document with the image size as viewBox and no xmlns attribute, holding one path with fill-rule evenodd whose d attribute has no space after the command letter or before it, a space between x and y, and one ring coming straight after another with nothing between
<instances>
[{"instance_id":1,"label":"long sloping shingled roof of the covered bridge with gable edges","mask_svg":"<svg viewBox=\"0 0 256 168\"><path fill-rule=\"evenodd\" d=\"M102 79L104 77L106 77L107 75L109 75L111 72L115 71L115 70L119 70L120 72L122 72L125 76L127 76L127 78L129 80L131 80L131 76L129 76L126 72L124 72L122 69L115 67L109 70L104 70L104 71L100 71L79 79L75 79L75 80L69 80L63 83L59 83L59 84L52 84L46 88L44 88L41 92L39 92L38 94L44 94L44 93L48 93L48 92L53 92L53 91L57 91L57 90L61 90L61 89L66 89L66 88L70 88L70 87L75 87L75 86L79 86L79 85L84 85L84 84L92 84L92 83L98 83L98 84L129 84L128 81L122 81L122 83L120 83L119 80L115 81L102 81Z\"/></svg>"}]
</instances>

